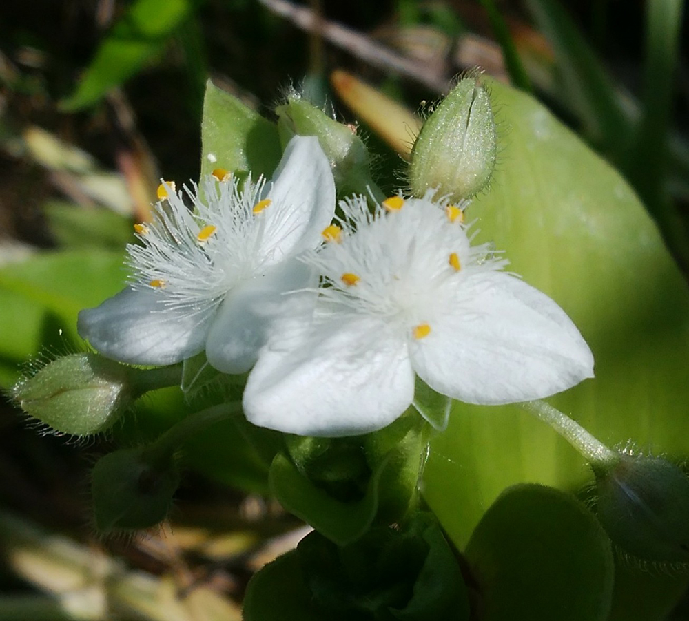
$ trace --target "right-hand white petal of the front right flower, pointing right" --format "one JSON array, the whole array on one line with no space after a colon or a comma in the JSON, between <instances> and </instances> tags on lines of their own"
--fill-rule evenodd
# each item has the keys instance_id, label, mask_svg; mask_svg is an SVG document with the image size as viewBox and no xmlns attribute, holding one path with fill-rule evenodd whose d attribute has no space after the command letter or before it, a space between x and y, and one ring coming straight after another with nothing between
<instances>
[{"instance_id":1,"label":"right-hand white petal of the front right flower, pointing right","mask_svg":"<svg viewBox=\"0 0 689 621\"><path fill-rule=\"evenodd\" d=\"M552 299L493 272L465 281L455 311L410 345L431 388L467 403L540 399L593 377L593 354Z\"/></svg>"}]
</instances>

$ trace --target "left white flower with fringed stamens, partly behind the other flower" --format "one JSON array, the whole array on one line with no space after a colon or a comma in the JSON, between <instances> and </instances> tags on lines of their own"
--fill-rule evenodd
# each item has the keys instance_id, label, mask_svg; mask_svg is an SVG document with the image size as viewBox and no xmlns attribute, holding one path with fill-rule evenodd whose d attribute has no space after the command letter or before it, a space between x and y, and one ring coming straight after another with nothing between
<instances>
[{"instance_id":1,"label":"left white flower with fringed stamens, partly behind the other flower","mask_svg":"<svg viewBox=\"0 0 689 621\"><path fill-rule=\"evenodd\" d=\"M335 210L330 165L314 137L295 136L274 180L212 176L181 193L167 187L156 220L127 246L130 285L79 313L79 334L103 355L172 364L205 349L227 373L251 368L282 293L312 284L296 260L313 249Z\"/></svg>"}]
</instances>

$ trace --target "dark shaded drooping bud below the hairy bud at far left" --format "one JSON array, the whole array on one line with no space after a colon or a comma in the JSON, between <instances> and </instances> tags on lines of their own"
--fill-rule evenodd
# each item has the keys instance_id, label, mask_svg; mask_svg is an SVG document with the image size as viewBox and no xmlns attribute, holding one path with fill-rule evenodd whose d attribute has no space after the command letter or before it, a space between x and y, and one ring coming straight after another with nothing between
<instances>
[{"instance_id":1,"label":"dark shaded drooping bud below the hairy bud at far left","mask_svg":"<svg viewBox=\"0 0 689 621\"><path fill-rule=\"evenodd\" d=\"M179 473L169 452L127 448L101 457L91 474L96 529L107 534L158 524L178 485Z\"/></svg>"}]
</instances>

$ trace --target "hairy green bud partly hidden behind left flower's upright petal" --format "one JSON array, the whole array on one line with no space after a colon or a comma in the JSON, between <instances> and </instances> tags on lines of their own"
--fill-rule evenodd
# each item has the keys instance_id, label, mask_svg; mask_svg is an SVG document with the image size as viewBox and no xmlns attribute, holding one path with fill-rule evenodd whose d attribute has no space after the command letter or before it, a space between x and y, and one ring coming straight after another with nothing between
<instances>
[{"instance_id":1,"label":"hairy green bud partly hidden behind left flower's upright petal","mask_svg":"<svg viewBox=\"0 0 689 621\"><path fill-rule=\"evenodd\" d=\"M278 133L285 147L292 136L317 136L335 177L338 195L367 193L375 187L369 172L369 152L356 128L333 120L295 92L276 107Z\"/></svg>"}]
</instances>

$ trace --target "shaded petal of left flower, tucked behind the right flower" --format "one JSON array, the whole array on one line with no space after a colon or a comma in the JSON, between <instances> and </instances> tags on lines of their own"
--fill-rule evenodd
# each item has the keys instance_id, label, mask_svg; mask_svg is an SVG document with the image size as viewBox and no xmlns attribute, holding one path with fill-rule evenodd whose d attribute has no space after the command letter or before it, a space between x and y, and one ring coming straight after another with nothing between
<instances>
[{"instance_id":1,"label":"shaded petal of left flower, tucked behind the right flower","mask_svg":"<svg viewBox=\"0 0 689 621\"><path fill-rule=\"evenodd\" d=\"M245 373L265 345L271 321L287 304L286 291L315 286L318 277L296 258L283 261L230 291L213 321L206 356L223 373Z\"/></svg>"}]
</instances>

